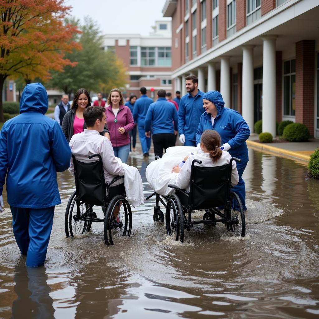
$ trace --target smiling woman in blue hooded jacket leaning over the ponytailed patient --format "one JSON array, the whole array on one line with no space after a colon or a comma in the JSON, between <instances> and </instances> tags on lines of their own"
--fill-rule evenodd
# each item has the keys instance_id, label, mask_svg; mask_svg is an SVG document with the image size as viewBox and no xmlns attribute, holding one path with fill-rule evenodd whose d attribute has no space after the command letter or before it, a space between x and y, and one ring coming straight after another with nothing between
<instances>
[{"instance_id":1,"label":"smiling woman in blue hooded jacket leaning over the ponytailed patient","mask_svg":"<svg viewBox=\"0 0 319 319\"><path fill-rule=\"evenodd\" d=\"M247 210L245 182L241 176L248 163L246 140L250 135L250 130L240 113L225 108L224 105L223 97L218 91L209 91L204 94L203 108L206 112L200 118L196 143L198 146L204 130L215 130L222 139L221 149L228 151L232 157L241 159L241 162L237 163L239 182L233 191L241 199L244 210Z\"/></svg>"}]
</instances>

